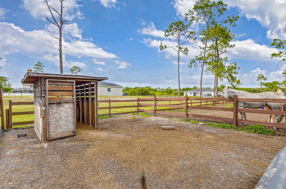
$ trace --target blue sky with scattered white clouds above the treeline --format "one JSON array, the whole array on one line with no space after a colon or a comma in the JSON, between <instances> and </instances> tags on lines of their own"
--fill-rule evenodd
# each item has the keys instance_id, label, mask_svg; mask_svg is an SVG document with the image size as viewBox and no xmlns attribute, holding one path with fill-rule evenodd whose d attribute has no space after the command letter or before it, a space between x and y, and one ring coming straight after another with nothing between
<instances>
[{"instance_id":1,"label":"blue sky with scattered white clouds above the treeline","mask_svg":"<svg viewBox=\"0 0 286 189\"><path fill-rule=\"evenodd\" d=\"M49 3L56 9L58 0ZM128 1L128 0L66 0L64 17L69 25L63 28L64 73L78 65L82 75L108 77L108 82L122 86L177 88L175 51L160 51L160 42L174 43L163 37L170 23L182 20L192 9L194 0ZM286 1L225 0L225 15L239 15L234 49L227 54L229 62L241 68L241 87L256 87L256 77L262 73L268 81L282 81L286 65L271 59L277 49L273 38L286 39ZM27 69L37 61L47 73L59 73L57 28L43 18L50 16L42 0L0 1L0 70L10 78L13 87L21 85ZM203 25L194 26L199 31ZM201 43L188 43L188 56L181 57L181 88L199 86L200 68L189 69L188 62L198 55ZM203 77L203 87L213 87L213 76ZM227 85L219 81L219 85Z\"/></svg>"}]
</instances>

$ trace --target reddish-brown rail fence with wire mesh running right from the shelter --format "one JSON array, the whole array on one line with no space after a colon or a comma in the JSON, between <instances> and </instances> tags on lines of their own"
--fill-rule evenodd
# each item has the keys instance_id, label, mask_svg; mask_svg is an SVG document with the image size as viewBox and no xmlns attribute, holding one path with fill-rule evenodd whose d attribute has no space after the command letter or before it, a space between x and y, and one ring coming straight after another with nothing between
<instances>
[{"instance_id":1,"label":"reddish-brown rail fence with wire mesh running right from the shelter","mask_svg":"<svg viewBox=\"0 0 286 189\"><path fill-rule=\"evenodd\" d=\"M111 106L111 103L118 102L119 105ZM131 105L120 105L121 103L133 102ZM178 103L180 102L180 103ZM256 117L259 114L273 114L273 115L284 115L285 111L267 111L261 109L238 109L238 102L272 102L272 103L286 103L286 99L245 99L237 98L235 95L231 100L224 100L223 97L216 98L196 98L185 96L183 98L137 98L134 100L98 100L98 110L108 110L106 113L99 113L98 116L112 116L121 114L132 114L139 112L149 112L154 116L156 114L184 117L186 120L189 118L203 118L219 121L232 122L234 126L240 123L244 124L263 124L269 127L286 128L286 124L281 123L269 123L265 121L258 120L243 120L238 118L239 112L251 113ZM102 107L105 103L105 106ZM136 103L136 104L135 104ZM108 105L107 105L108 104ZM227 107L228 106L228 107ZM120 110L120 108L134 108L132 111ZM112 110L117 109L117 112L112 112ZM178 111L179 110L179 111ZM220 116L212 116L207 114L199 114L198 112L192 112L191 110L208 110L209 112L222 112ZM224 113L225 112L225 113ZM228 112L228 113L227 113ZM225 116L228 115L228 116ZM231 115L231 116L230 116ZM239 116L240 117L240 116Z\"/></svg>"}]
</instances>

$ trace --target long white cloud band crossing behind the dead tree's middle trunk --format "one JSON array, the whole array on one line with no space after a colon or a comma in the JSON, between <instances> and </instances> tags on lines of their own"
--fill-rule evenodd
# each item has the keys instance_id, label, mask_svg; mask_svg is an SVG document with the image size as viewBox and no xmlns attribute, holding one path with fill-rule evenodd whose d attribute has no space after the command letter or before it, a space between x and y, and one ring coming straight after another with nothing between
<instances>
[{"instance_id":1,"label":"long white cloud band crossing behind the dead tree's middle trunk","mask_svg":"<svg viewBox=\"0 0 286 189\"><path fill-rule=\"evenodd\" d=\"M50 37L46 30L24 31L14 24L0 23L0 53L2 56L12 53L22 53L29 57L58 61L58 41ZM116 55L104 51L91 41L72 39L63 41L63 57L65 54L77 57L93 57L114 59Z\"/></svg>"}]
</instances>

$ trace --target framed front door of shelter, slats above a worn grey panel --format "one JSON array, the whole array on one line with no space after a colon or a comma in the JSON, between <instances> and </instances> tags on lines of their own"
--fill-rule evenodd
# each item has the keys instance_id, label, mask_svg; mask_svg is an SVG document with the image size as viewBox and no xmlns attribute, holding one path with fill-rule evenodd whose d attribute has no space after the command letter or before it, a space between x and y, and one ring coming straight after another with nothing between
<instances>
[{"instance_id":1,"label":"framed front door of shelter, slats above a worn grey panel","mask_svg":"<svg viewBox=\"0 0 286 189\"><path fill-rule=\"evenodd\" d=\"M47 139L76 134L75 81L46 79Z\"/></svg>"}]
</instances>

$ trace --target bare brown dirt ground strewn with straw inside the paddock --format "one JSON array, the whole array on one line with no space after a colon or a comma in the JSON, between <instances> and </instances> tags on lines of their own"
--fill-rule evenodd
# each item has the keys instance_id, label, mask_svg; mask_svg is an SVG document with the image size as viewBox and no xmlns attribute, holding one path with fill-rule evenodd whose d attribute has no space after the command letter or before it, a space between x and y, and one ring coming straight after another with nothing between
<instances>
[{"instance_id":1,"label":"bare brown dirt ground strewn with straw inside the paddock","mask_svg":"<svg viewBox=\"0 0 286 189\"><path fill-rule=\"evenodd\" d=\"M161 126L175 126L162 130ZM17 138L17 134L27 134ZM78 124L47 142L33 129L0 135L0 188L254 188L286 138L135 115Z\"/></svg>"}]
</instances>

